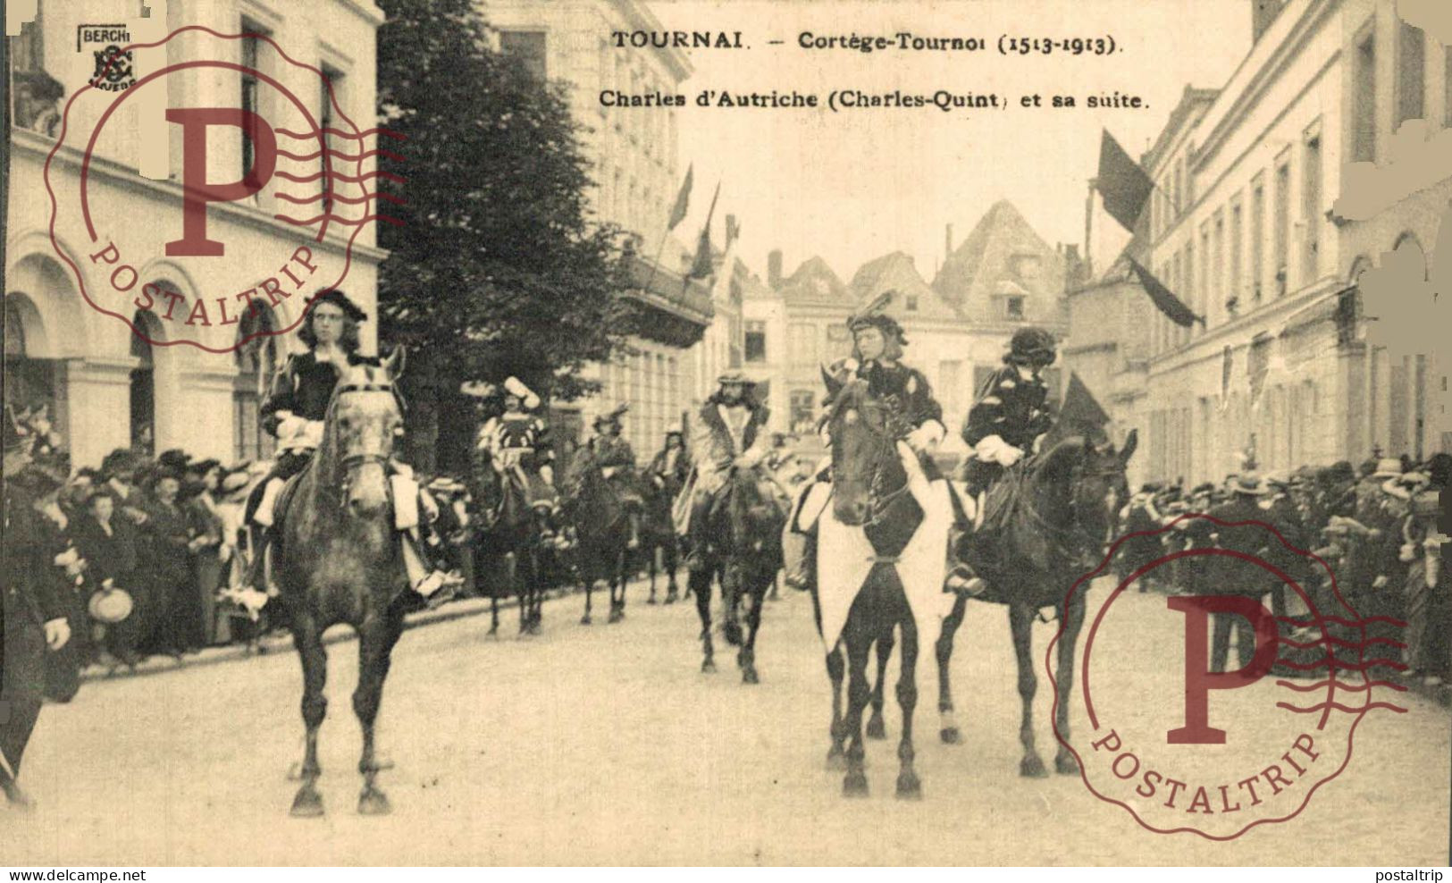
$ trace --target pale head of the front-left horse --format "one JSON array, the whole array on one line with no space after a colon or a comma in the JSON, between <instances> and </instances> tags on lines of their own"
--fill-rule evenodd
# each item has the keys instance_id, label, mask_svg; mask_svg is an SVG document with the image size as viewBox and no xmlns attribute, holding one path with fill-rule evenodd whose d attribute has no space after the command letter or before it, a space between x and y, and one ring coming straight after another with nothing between
<instances>
[{"instance_id":1,"label":"pale head of the front-left horse","mask_svg":"<svg viewBox=\"0 0 1452 883\"><path fill-rule=\"evenodd\" d=\"M382 365L350 366L328 404L324 446L343 469L343 502L356 516L372 516L388 505L386 466L404 428L393 389L402 367L402 347Z\"/></svg>"}]
</instances>

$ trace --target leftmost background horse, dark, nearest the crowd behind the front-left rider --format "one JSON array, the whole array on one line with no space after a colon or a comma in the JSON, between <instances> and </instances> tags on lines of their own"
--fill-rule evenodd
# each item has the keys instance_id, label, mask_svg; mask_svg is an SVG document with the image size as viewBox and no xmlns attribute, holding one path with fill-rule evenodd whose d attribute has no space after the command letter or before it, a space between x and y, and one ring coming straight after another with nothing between
<instances>
[{"instance_id":1,"label":"leftmost background horse, dark, nearest the crowd behind the front-left rider","mask_svg":"<svg viewBox=\"0 0 1452 883\"><path fill-rule=\"evenodd\" d=\"M529 492L511 479L508 471L495 468L486 450L478 450L473 473L481 514L475 548L481 563L498 562L498 566L481 566L479 574L499 579L497 585L518 598L520 635L539 635L544 619L539 543L547 514L543 507L531 505ZM498 590L489 591L491 636L499 632L499 594Z\"/></svg>"}]
</instances>

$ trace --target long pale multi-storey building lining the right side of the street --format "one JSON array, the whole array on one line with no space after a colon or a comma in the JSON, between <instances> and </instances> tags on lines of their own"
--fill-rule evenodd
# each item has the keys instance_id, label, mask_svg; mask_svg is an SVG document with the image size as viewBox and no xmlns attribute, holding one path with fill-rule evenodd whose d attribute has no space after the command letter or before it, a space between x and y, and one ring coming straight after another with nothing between
<instances>
[{"instance_id":1,"label":"long pale multi-storey building lining the right side of the street","mask_svg":"<svg viewBox=\"0 0 1452 883\"><path fill-rule=\"evenodd\" d=\"M1430 269L1446 171L1375 216L1334 206L1352 164L1385 163L1407 121L1426 121L1408 129L1420 138L1449 125L1452 55L1392 0L1247 3L1247 15L1244 61L1221 89L1186 87L1141 158L1156 189L1133 248L1204 321L1172 324L1111 267L1070 299L1070 365L1109 378L1111 414L1140 428L1140 479L1446 450L1446 359L1390 359L1366 335L1356 285L1394 248ZM1105 324L1130 315L1150 322Z\"/></svg>"}]
</instances>

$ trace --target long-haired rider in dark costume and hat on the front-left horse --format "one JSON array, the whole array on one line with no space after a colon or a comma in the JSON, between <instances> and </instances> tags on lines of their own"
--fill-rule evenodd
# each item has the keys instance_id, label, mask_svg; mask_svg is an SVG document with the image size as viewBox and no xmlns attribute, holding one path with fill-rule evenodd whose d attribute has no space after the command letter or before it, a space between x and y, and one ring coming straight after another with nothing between
<instances>
[{"instance_id":1,"label":"long-haired rider in dark costume and hat on the front-left horse","mask_svg":"<svg viewBox=\"0 0 1452 883\"><path fill-rule=\"evenodd\" d=\"M256 540L251 543L253 559L244 582L250 590L263 593L267 588L263 568L266 548L274 539L273 505L286 479L302 472L322 443L324 418L338 376L348 366L378 363L378 359L360 356L357 351L357 324L366 320L367 312L341 290L327 289L318 293L308 305L306 318L298 333L308 351L287 359L287 365L279 372L272 392L263 402L263 428L277 439L277 459L272 472L247 500L244 523ZM428 598L453 581L449 574L428 563L425 542L421 537L437 508L428 495L421 492L407 465L391 462L389 472L398 516L395 526L404 543L408 582L418 595ZM424 510L425 517L418 517L415 505ZM254 594L245 597L257 598ZM261 603L264 601L256 601L258 607Z\"/></svg>"}]
</instances>

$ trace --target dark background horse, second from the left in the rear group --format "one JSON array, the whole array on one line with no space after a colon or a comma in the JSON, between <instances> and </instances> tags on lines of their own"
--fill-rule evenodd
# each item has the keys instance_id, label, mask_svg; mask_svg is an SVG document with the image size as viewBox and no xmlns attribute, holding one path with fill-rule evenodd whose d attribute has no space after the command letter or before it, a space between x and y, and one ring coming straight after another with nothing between
<instances>
[{"instance_id":1,"label":"dark background horse, second from the left in the rear group","mask_svg":"<svg viewBox=\"0 0 1452 883\"><path fill-rule=\"evenodd\" d=\"M610 590L608 622L620 622L626 616L630 518L588 446L576 450L565 469L560 511L575 527L575 571L585 584L585 614L579 624L588 626L592 622L591 595L601 582Z\"/></svg>"}]
</instances>

